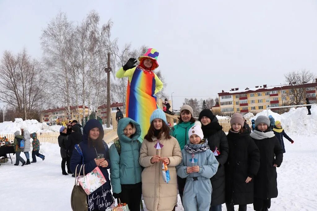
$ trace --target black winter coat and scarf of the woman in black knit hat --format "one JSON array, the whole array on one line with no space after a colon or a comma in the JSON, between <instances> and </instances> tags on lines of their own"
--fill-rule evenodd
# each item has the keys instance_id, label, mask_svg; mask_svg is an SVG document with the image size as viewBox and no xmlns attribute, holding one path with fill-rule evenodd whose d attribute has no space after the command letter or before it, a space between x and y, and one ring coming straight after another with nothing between
<instances>
[{"instance_id":1,"label":"black winter coat and scarf of the woman in black knit hat","mask_svg":"<svg viewBox=\"0 0 317 211\"><path fill-rule=\"evenodd\" d=\"M225 173L224 164L227 162L229 146L226 134L218 123L217 117L212 121L202 126L204 138L207 138L208 145L211 151L217 150L220 152L216 159L219 163L217 173L210 178L212 185L211 206L223 204L225 202Z\"/></svg>"}]
</instances>

